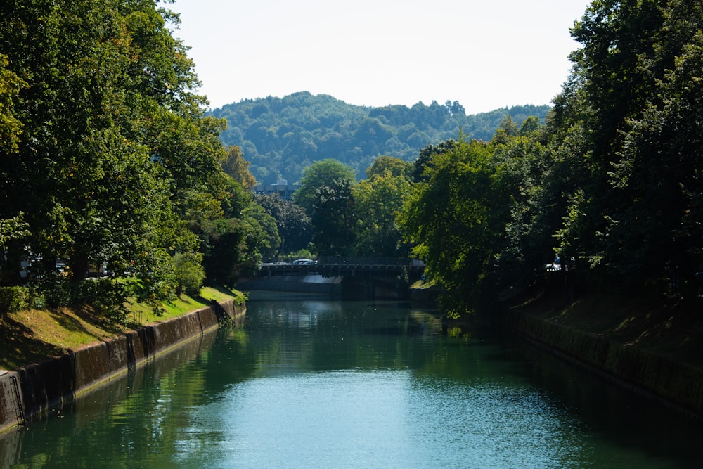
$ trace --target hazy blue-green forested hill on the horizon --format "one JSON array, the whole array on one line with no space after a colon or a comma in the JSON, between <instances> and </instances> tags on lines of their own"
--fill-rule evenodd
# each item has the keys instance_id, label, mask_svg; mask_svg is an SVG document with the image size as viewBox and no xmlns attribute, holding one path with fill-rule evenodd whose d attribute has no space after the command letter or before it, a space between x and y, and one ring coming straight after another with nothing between
<instances>
[{"instance_id":1,"label":"hazy blue-green forested hill on the horizon","mask_svg":"<svg viewBox=\"0 0 703 469\"><path fill-rule=\"evenodd\" d=\"M259 184L273 184L278 179L295 183L304 167L325 158L344 162L363 179L379 155L411 161L421 148L456 139L460 130L472 139L490 140L506 115L518 124L532 115L543 122L549 110L548 105L520 105L466 115L457 101L370 108L302 91L247 99L209 114L227 120L220 139L242 148Z\"/></svg>"}]
</instances>

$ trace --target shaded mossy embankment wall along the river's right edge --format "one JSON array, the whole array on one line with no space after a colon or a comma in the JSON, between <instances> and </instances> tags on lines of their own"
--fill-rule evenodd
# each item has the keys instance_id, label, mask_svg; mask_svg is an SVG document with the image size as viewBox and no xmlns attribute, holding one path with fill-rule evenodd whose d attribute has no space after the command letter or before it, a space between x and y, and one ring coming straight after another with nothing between
<instances>
[{"instance_id":1,"label":"shaded mossy embankment wall along the river's right edge","mask_svg":"<svg viewBox=\"0 0 703 469\"><path fill-rule=\"evenodd\" d=\"M508 323L520 335L563 359L673 406L695 420L703 419L701 368L524 311L512 312Z\"/></svg>"}]
</instances>

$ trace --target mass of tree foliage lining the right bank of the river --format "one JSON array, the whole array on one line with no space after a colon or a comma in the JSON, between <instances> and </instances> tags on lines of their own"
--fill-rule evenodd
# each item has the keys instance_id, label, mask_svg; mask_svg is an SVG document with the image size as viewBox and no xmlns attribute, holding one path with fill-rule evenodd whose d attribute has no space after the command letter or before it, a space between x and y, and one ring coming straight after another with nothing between
<instances>
[{"instance_id":1,"label":"mass of tree foliage lining the right bank of the river","mask_svg":"<svg viewBox=\"0 0 703 469\"><path fill-rule=\"evenodd\" d=\"M420 152L400 221L448 306L536 285L555 257L571 281L697 300L701 30L698 2L593 1L544 125Z\"/></svg>"}]
</instances>

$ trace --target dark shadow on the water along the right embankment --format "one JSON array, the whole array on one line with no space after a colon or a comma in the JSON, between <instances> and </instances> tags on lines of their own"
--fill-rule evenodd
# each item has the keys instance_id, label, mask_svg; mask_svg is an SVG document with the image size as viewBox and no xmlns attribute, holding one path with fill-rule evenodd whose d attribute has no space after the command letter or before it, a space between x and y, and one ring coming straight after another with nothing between
<instances>
[{"instance_id":1,"label":"dark shadow on the water along the right embankment","mask_svg":"<svg viewBox=\"0 0 703 469\"><path fill-rule=\"evenodd\" d=\"M583 430L623 451L641 451L651 461L680 461L671 467L698 468L703 461L703 425L637 390L614 383L512 335L501 337L496 360L558 399ZM607 457L607 451L602 456ZM669 466L666 466L669 467Z\"/></svg>"}]
</instances>

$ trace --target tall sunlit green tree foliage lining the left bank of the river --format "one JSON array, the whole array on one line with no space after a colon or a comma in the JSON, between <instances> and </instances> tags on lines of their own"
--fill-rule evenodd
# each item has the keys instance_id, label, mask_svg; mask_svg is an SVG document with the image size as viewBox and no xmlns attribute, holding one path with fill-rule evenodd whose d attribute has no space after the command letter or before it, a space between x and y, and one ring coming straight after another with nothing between
<instances>
[{"instance_id":1,"label":"tall sunlit green tree foliage lining the left bank of the river","mask_svg":"<svg viewBox=\"0 0 703 469\"><path fill-rule=\"evenodd\" d=\"M31 260L30 281L47 304L112 310L127 293L86 281L90 264L107 263L118 280L137 279L138 301L159 307L184 286L175 253L197 269L209 248L200 226L245 227L247 254L232 262L254 264L273 243L261 219L243 215L252 200L241 184L251 179L241 153L228 155L219 139L224 120L205 115L188 48L172 36L178 24L153 1L1 4L4 283L22 282L20 266ZM58 258L69 276L58 276Z\"/></svg>"}]
</instances>

